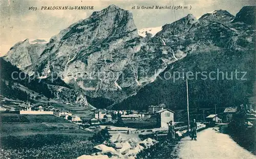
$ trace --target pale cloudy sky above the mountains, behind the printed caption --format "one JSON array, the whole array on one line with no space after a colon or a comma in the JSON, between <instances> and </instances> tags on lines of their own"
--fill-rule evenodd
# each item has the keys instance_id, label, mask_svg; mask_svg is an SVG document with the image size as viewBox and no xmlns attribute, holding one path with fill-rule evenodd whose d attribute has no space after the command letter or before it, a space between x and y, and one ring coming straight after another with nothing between
<instances>
[{"instance_id":1,"label":"pale cloudy sky above the mountains, behind the printed caption","mask_svg":"<svg viewBox=\"0 0 256 159\"><path fill-rule=\"evenodd\" d=\"M166 23L172 23L187 14L200 17L214 10L227 10L236 15L243 6L256 5L255 1L74 1L74 0L24 0L0 2L1 17L1 45L0 56L4 56L16 42L29 39L49 40L61 30L72 23L86 19L92 12L102 10L114 4L133 13L134 21L138 29L152 28ZM132 10L133 6L192 6L191 10ZM94 6L93 10L41 10L42 6ZM38 10L29 10L29 7L37 7Z\"/></svg>"}]
</instances>

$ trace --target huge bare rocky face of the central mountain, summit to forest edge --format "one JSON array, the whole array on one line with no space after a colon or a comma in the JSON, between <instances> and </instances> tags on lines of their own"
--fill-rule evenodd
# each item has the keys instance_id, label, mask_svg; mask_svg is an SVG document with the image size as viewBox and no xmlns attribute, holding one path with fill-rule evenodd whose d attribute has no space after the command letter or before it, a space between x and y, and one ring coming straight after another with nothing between
<instances>
[{"instance_id":1,"label":"huge bare rocky face of the central mountain, summit to forest edge","mask_svg":"<svg viewBox=\"0 0 256 159\"><path fill-rule=\"evenodd\" d=\"M111 5L51 38L35 69L42 76L55 72L91 97L119 101L186 56L173 55L159 38L138 35L132 13Z\"/></svg>"}]
</instances>

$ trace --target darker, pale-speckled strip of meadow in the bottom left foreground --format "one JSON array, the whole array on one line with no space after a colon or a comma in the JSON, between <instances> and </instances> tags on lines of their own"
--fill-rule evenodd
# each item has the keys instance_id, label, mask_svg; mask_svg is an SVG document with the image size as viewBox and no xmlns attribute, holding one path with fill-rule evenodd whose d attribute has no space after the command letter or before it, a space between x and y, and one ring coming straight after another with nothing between
<instances>
[{"instance_id":1,"label":"darker, pale-speckled strip of meadow in the bottom left foreground","mask_svg":"<svg viewBox=\"0 0 256 159\"><path fill-rule=\"evenodd\" d=\"M0 158L77 158L92 153L93 146L74 134L7 136L1 138Z\"/></svg>"}]
</instances>

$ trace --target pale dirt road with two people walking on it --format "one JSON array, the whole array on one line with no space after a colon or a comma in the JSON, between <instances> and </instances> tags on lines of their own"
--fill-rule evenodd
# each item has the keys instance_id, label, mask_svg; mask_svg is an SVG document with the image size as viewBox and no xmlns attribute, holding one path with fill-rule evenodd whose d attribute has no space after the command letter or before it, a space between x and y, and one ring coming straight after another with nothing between
<instances>
[{"instance_id":1,"label":"pale dirt road with two people walking on it","mask_svg":"<svg viewBox=\"0 0 256 159\"><path fill-rule=\"evenodd\" d=\"M182 159L256 158L228 135L219 133L218 128L199 132L197 141L190 141L189 137L181 139L177 149L178 158Z\"/></svg>"}]
</instances>

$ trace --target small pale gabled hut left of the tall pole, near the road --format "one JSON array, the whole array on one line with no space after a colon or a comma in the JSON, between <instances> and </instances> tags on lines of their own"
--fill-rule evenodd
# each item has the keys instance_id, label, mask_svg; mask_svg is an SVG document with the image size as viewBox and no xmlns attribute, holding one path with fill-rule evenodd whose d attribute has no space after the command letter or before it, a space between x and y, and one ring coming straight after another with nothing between
<instances>
[{"instance_id":1,"label":"small pale gabled hut left of the tall pole, near the road","mask_svg":"<svg viewBox=\"0 0 256 159\"><path fill-rule=\"evenodd\" d=\"M169 121L174 121L174 111L163 109L155 113L157 118L157 127L168 127Z\"/></svg>"}]
</instances>

